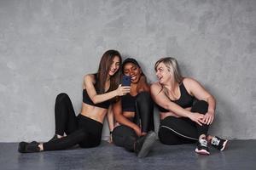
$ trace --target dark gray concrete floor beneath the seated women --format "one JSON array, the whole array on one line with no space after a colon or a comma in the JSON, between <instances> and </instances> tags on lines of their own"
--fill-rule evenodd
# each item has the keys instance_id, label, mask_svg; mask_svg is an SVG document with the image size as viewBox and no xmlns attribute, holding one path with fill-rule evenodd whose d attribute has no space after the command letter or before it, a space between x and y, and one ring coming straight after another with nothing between
<instances>
[{"instance_id":1,"label":"dark gray concrete floor beneath the seated women","mask_svg":"<svg viewBox=\"0 0 256 170\"><path fill-rule=\"evenodd\" d=\"M158 141L148 157L102 141L97 148L20 154L17 143L0 143L0 169L256 169L256 140L232 140L227 150L210 148L210 156L199 156L195 144L170 146Z\"/></svg>"}]
</instances>

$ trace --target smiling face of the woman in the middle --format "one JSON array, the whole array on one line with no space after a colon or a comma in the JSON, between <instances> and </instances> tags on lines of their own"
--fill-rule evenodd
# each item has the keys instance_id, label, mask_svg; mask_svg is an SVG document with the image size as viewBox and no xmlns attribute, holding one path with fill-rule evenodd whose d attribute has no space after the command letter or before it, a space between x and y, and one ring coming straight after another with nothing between
<instances>
[{"instance_id":1,"label":"smiling face of the woman in the middle","mask_svg":"<svg viewBox=\"0 0 256 170\"><path fill-rule=\"evenodd\" d=\"M137 83L142 76L141 68L133 63L126 63L123 72L125 76L131 77L131 83Z\"/></svg>"}]
</instances>

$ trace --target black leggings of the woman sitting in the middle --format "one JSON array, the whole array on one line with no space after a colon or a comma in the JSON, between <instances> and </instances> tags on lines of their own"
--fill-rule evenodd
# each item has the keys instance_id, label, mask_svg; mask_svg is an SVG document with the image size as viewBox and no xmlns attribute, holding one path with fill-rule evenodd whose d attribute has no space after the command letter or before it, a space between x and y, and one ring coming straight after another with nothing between
<instances>
[{"instance_id":1,"label":"black leggings of the woman sitting in the middle","mask_svg":"<svg viewBox=\"0 0 256 170\"><path fill-rule=\"evenodd\" d=\"M137 94L136 113L134 122L142 127L142 132L154 131L154 103L148 92ZM133 151L134 143L138 139L137 133L124 125L113 129L113 144L124 147L126 150Z\"/></svg>"}]
</instances>

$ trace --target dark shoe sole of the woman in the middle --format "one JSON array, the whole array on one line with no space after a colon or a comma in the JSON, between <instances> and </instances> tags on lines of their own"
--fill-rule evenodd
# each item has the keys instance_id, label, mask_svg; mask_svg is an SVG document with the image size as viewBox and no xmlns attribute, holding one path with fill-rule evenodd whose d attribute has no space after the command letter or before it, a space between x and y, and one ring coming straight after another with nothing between
<instances>
[{"instance_id":1,"label":"dark shoe sole of the woman in the middle","mask_svg":"<svg viewBox=\"0 0 256 170\"><path fill-rule=\"evenodd\" d=\"M148 155L149 150L152 148L155 140L156 140L156 134L155 133L150 133L148 134L148 136L146 137L143 147L140 150L140 152L138 153L138 157L142 158Z\"/></svg>"}]
</instances>

